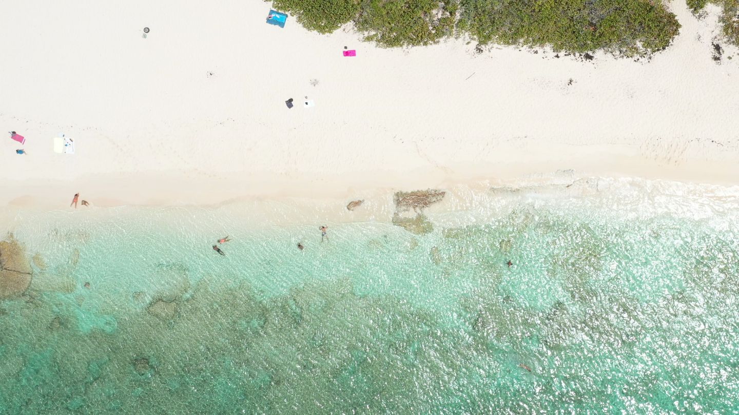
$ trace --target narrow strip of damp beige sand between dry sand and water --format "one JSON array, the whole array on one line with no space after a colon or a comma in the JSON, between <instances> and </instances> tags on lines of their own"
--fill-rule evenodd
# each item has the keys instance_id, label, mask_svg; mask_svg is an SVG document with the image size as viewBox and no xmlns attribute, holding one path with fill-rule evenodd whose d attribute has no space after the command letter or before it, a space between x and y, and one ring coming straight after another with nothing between
<instances>
[{"instance_id":1,"label":"narrow strip of damp beige sand between dry sand and water","mask_svg":"<svg viewBox=\"0 0 739 415\"><path fill-rule=\"evenodd\" d=\"M643 160L638 164L624 160L592 162L531 162L527 165L464 166L451 168L418 168L415 171L357 172L335 176L331 174L276 174L273 172L245 172L249 179L188 178L180 172L137 172L95 175L75 180L26 180L4 184L0 206L64 209L65 202L80 192L95 207L127 205L161 207L217 207L238 200L305 199L313 202L339 202L364 199L367 195L395 191L415 191L427 188L490 188L514 186L530 182L575 181L588 177L635 178L664 180L698 185L739 185L739 165L718 162L693 162L683 165L665 165ZM588 169L588 166L590 169ZM596 167L597 166L597 167ZM234 174L239 176L239 174Z\"/></svg>"}]
</instances>

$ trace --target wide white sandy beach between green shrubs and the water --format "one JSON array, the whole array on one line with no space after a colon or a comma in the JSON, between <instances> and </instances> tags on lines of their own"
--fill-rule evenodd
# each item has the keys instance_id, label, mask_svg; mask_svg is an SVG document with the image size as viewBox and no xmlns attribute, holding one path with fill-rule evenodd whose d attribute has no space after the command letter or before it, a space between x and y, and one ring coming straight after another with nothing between
<instances>
[{"instance_id":1,"label":"wide white sandy beach between green shrubs and the water","mask_svg":"<svg viewBox=\"0 0 739 415\"><path fill-rule=\"evenodd\" d=\"M28 154L1 140L0 203L349 200L562 169L737 184L739 55L711 59L718 10L671 7L681 34L647 63L378 49L265 24L258 0L4 1L0 126ZM59 133L76 154L52 151Z\"/></svg>"}]
</instances>

